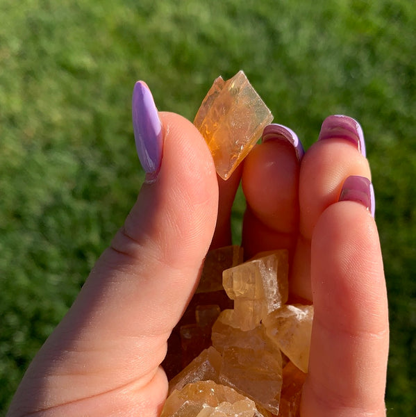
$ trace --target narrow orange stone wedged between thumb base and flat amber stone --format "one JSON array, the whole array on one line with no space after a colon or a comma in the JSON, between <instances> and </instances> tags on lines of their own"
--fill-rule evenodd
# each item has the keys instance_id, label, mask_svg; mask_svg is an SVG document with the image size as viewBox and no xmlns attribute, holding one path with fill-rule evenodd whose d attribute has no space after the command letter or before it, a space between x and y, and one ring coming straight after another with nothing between
<instances>
[{"instance_id":1,"label":"narrow orange stone wedged between thumb base and flat amber stone","mask_svg":"<svg viewBox=\"0 0 416 417\"><path fill-rule=\"evenodd\" d=\"M198 381L219 382L219 369L221 368L221 354L210 346L203 350L186 368L169 381L169 394L175 389L181 391L186 384Z\"/></svg>"}]
</instances>

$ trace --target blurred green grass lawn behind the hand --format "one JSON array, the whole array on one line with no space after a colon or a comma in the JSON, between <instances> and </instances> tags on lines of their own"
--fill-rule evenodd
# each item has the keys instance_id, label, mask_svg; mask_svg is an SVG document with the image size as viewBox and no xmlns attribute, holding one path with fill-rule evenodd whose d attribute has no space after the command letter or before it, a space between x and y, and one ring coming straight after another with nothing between
<instances>
[{"instance_id":1,"label":"blurred green grass lawn behind the hand","mask_svg":"<svg viewBox=\"0 0 416 417\"><path fill-rule=\"evenodd\" d=\"M0 413L135 201L135 81L192 120L213 79L242 69L306 147L326 115L363 125L388 416L415 415L415 27L405 0L0 0ZM240 195L234 224L243 211Z\"/></svg>"}]
</instances>

